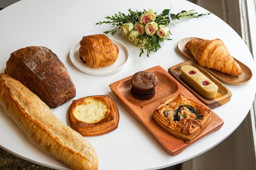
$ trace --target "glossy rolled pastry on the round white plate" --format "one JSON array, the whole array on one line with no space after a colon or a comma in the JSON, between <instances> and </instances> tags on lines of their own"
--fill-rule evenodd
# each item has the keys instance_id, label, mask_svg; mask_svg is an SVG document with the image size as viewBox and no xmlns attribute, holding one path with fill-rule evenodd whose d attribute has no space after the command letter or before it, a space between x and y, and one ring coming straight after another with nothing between
<instances>
[{"instance_id":1,"label":"glossy rolled pastry on the round white plate","mask_svg":"<svg viewBox=\"0 0 256 170\"><path fill-rule=\"evenodd\" d=\"M88 67L106 67L117 60L119 48L104 34L85 36L80 45L79 58Z\"/></svg>"}]
</instances>

